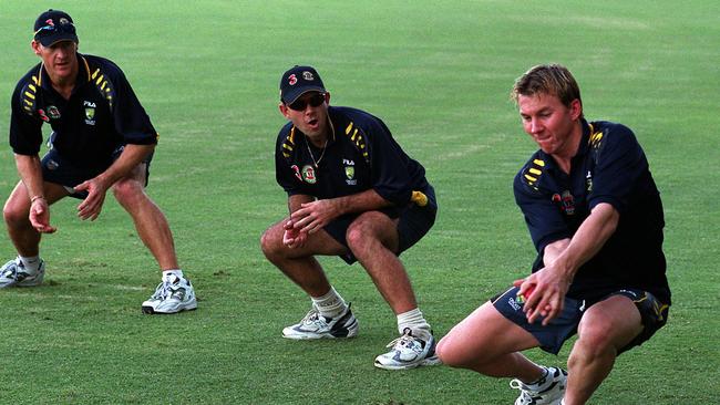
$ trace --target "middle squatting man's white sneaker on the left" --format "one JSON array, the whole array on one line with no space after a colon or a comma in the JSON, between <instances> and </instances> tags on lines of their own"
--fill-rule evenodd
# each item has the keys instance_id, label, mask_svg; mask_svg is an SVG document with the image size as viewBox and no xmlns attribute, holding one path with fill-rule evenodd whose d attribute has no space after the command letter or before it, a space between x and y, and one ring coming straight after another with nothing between
<instances>
[{"instance_id":1,"label":"middle squatting man's white sneaker on the left","mask_svg":"<svg viewBox=\"0 0 720 405\"><path fill-rule=\"evenodd\" d=\"M282 330L282 338L295 340L353 338L358 334L358 320L350 311L350 304L341 314L332 319L320 315L318 309L312 305L300 323Z\"/></svg>"}]
</instances>

